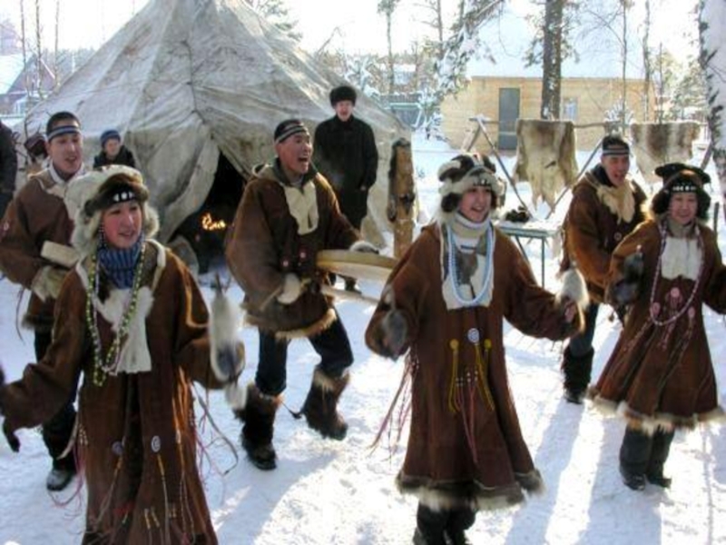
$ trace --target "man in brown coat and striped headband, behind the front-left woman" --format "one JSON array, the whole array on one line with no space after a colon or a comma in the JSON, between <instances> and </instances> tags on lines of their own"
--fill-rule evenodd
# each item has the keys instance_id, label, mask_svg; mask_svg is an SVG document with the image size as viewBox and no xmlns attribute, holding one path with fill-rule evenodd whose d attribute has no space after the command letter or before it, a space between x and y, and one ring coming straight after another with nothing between
<instances>
[{"instance_id":1,"label":"man in brown coat and striped headband, behind the front-left woman","mask_svg":"<svg viewBox=\"0 0 726 545\"><path fill-rule=\"evenodd\" d=\"M45 140L50 165L28 179L8 205L0 225L0 270L11 282L31 291L23 322L35 333L38 362L51 344L55 299L68 272L53 259L46 259L44 245L70 244L74 211L65 202L65 193L85 172L81 123L74 114L51 115ZM43 440L54 459L46 480L48 490L63 490L75 474L73 452L65 452L74 428L74 397L43 424Z\"/></svg>"}]
</instances>

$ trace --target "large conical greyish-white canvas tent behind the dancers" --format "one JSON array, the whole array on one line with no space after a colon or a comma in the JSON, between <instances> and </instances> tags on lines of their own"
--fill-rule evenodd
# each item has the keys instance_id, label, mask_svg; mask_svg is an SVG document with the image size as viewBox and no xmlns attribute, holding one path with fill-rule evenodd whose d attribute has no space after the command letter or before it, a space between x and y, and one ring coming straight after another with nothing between
<instances>
[{"instance_id":1,"label":"large conical greyish-white canvas tent behind the dancers","mask_svg":"<svg viewBox=\"0 0 726 545\"><path fill-rule=\"evenodd\" d=\"M89 163L103 130L120 130L168 242L204 203L222 159L246 177L272 158L280 121L300 117L312 131L331 116L329 90L340 83L242 0L152 0L36 107L26 126L74 112ZM390 144L406 129L366 96L356 115L376 134L381 158L368 206L385 230Z\"/></svg>"}]
</instances>

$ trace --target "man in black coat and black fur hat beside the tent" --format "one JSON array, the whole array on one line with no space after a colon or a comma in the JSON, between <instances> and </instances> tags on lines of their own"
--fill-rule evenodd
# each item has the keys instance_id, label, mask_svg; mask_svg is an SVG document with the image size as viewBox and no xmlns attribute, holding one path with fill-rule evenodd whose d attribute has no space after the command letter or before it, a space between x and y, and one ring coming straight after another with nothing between
<instances>
[{"instance_id":1,"label":"man in black coat and black fur hat beside the tent","mask_svg":"<svg viewBox=\"0 0 726 545\"><path fill-rule=\"evenodd\" d=\"M340 211L359 231L368 212L368 190L376 183L378 150L373 129L353 115L356 98L349 85L330 91L335 116L315 130L313 162L333 186ZM346 289L356 290L356 281L346 279Z\"/></svg>"}]
</instances>

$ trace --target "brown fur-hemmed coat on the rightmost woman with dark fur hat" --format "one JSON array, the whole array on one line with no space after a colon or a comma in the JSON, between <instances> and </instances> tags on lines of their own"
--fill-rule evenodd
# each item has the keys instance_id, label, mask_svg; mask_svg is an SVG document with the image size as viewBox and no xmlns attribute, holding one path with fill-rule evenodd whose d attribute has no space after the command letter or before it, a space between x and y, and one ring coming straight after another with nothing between
<instances>
[{"instance_id":1,"label":"brown fur-hemmed coat on the rightmost woman with dark fur hat","mask_svg":"<svg viewBox=\"0 0 726 545\"><path fill-rule=\"evenodd\" d=\"M705 225L698 229L700 273L694 273L699 265L690 266L686 255L666 255L658 268L660 221L643 223L613 253L609 282L623 278L623 260L639 247L644 274L613 355L590 395L646 432L658 427L692 428L698 421L723 414L703 328L703 304L715 312L726 312L726 266L715 234ZM665 263L668 261L671 263ZM691 272L685 277L668 273L665 276L674 277L664 277L661 272L673 267ZM652 312L662 325L653 321Z\"/></svg>"}]
</instances>

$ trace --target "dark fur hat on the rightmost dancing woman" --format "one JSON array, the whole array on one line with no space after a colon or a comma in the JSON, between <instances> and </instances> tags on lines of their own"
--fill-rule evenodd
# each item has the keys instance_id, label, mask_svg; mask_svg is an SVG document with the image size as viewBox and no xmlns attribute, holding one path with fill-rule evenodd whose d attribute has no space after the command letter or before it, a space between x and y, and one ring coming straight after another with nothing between
<instances>
[{"instance_id":1,"label":"dark fur hat on the rightmost dancing woman","mask_svg":"<svg viewBox=\"0 0 726 545\"><path fill-rule=\"evenodd\" d=\"M655 169L656 175L663 179L663 186L655 193L651 201L651 210L655 215L668 212L673 193L696 193L699 220L708 218L711 207L711 195L703 189L704 183L711 183L711 176L697 166L683 163L662 164Z\"/></svg>"}]
</instances>

